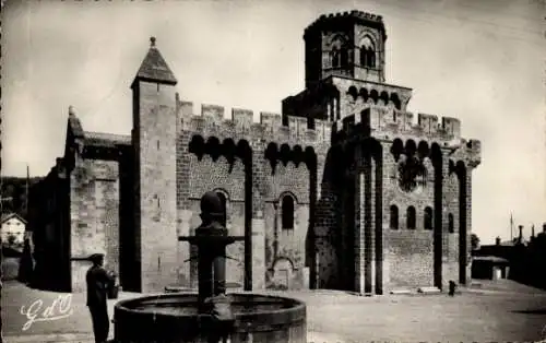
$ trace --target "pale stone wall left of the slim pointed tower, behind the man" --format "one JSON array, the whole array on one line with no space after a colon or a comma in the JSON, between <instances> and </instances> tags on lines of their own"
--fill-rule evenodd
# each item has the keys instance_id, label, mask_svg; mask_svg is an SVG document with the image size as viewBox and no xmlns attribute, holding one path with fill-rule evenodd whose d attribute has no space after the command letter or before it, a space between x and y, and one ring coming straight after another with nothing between
<instances>
[{"instance_id":1,"label":"pale stone wall left of the slim pointed tower, behind the man","mask_svg":"<svg viewBox=\"0 0 546 343\"><path fill-rule=\"evenodd\" d=\"M105 268L119 272L118 162L80 159L70 178L71 257L105 253ZM71 263L72 291L84 291L88 263Z\"/></svg>"}]
</instances>

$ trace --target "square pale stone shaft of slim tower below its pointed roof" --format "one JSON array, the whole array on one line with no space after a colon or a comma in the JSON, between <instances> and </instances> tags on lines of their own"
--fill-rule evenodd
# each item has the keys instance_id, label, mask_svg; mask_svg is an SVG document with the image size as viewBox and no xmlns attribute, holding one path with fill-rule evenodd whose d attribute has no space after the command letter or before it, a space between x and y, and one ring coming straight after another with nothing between
<instances>
[{"instance_id":1,"label":"square pale stone shaft of slim tower below its pointed roof","mask_svg":"<svg viewBox=\"0 0 546 343\"><path fill-rule=\"evenodd\" d=\"M175 87L139 81L134 142L140 164L141 292L163 292L178 277Z\"/></svg>"}]
</instances>

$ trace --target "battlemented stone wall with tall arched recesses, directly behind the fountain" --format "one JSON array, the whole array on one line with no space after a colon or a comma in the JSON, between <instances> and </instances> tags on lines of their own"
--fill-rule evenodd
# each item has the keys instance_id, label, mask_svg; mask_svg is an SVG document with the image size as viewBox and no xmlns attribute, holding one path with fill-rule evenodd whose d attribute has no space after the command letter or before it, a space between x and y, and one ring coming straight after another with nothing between
<instances>
[{"instance_id":1,"label":"battlemented stone wall with tall arched recesses, directly behind the fountain","mask_svg":"<svg viewBox=\"0 0 546 343\"><path fill-rule=\"evenodd\" d=\"M224 118L224 108L215 105L202 105L201 116L193 113L193 105L191 103L178 102L178 167L177 167L177 185L178 185L178 232L180 235L191 235L192 229L201 224L198 220L199 213L194 213L198 209L193 209L191 202L199 199L205 191L219 188L228 194L229 202L233 203L230 211L232 230L236 229L234 226L239 223L240 228L245 228L246 220L245 214L251 211L251 263L247 268L251 268L253 288L265 287L265 274L268 264L272 261L265 260L265 233L270 230L266 228L264 212L266 211L265 202L272 197L277 198L283 191L289 190L295 192L298 202L301 204L309 202L309 172L305 162L301 162L296 168L295 174L283 172L283 163L277 161L275 172L276 176L271 176L271 164L265 159L265 146L269 143L276 143L277 146L287 144L290 154L296 153L299 146L300 152L306 149L311 149L317 155L324 153L328 146L330 137L330 127L324 121L317 120L314 127L311 129L306 118L289 117L287 126L282 125L281 116L276 114L260 114L260 122L253 122L252 111L245 109L233 109L232 119ZM193 153L189 153L189 143L194 135L200 135L204 142L211 138L224 144L225 140L230 140L235 145L248 144L251 149L251 163L252 163L252 189L251 189L251 208L250 203L242 205L237 204L239 201L245 201L249 197L249 190L246 190L246 181L248 175L245 175L245 165L242 161L236 157L232 170L225 157L219 156L217 161L213 161L211 156L205 153L201 161ZM226 145L222 145L226 146ZM224 147L222 147L224 149ZM301 157L301 156L300 156ZM183 161L183 163L182 163ZM288 163L290 165L290 163ZM289 167L288 168L294 168ZM301 172L300 172L301 170ZM276 180L277 179L277 180ZM237 206L236 206L237 204ZM236 211L237 209L237 211ZM301 233L307 234L308 229L308 211L307 217L298 215L300 226L305 228L299 229ZM247 213L247 216L250 214ZM197 225L197 226L195 226ZM237 227L237 229L239 229ZM298 232L299 232L298 230ZM248 232L248 228L247 228ZM240 232L241 235L245 230ZM304 236L305 237L305 236ZM292 243L290 243L292 244ZM305 238L299 240L296 246L305 247ZM287 244L288 246L288 244ZM190 257L190 249L185 243L179 244L178 260L187 260ZM238 249L234 245L234 249ZM289 248L293 249L293 248ZM294 248L295 249L295 248ZM239 255L240 251L235 251ZM305 249L301 248L301 252ZM247 255L250 251L247 251ZM236 257L237 258L237 257ZM240 256L244 259L244 255ZM305 253L301 257L305 263ZM240 261L240 260L239 260ZM229 262L230 263L230 262ZM247 261L249 263L249 261ZM228 267L229 268L229 267ZM238 265L234 264L237 270ZM179 282L191 286L191 279L193 272L190 264L185 263L179 269ZM234 272L236 275L238 272ZM302 271L304 273L304 271ZM238 276L237 276L238 277ZM299 276L298 276L299 277ZM295 283L299 284L301 282Z\"/></svg>"}]
</instances>

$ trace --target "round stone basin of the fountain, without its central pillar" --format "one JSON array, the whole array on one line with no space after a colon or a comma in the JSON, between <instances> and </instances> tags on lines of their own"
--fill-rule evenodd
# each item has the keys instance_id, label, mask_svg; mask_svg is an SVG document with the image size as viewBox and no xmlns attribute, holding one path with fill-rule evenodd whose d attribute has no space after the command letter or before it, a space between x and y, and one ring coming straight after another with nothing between
<instances>
[{"instance_id":1,"label":"round stone basin of the fountain, without its central pillar","mask_svg":"<svg viewBox=\"0 0 546 343\"><path fill-rule=\"evenodd\" d=\"M307 343L306 306L296 299L228 294L236 317L230 342ZM207 342L210 317L198 314L197 294L122 300L114 309L117 343Z\"/></svg>"}]
</instances>

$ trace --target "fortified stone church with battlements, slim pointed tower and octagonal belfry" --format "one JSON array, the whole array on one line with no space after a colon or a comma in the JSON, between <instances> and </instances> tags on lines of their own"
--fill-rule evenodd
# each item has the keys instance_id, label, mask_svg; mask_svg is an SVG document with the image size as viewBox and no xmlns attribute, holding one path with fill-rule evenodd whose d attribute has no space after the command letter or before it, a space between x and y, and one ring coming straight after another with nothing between
<instances>
[{"instance_id":1,"label":"fortified stone church with battlements, slim pointed tower and octagonal belfry","mask_svg":"<svg viewBox=\"0 0 546 343\"><path fill-rule=\"evenodd\" d=\"M85 259L103 252L126 291L195 288L183 237L211 190L240 237L232 289L467 283L480 142L455 118L406 111L412 90L384 80L381 16L321 15L304 40L306 88L259 122L194 108L155 38L131 84L131 135L85 131L71 107L63 156L29 196L37 286L84 289Z\"/></svg>"}]
</instances>

